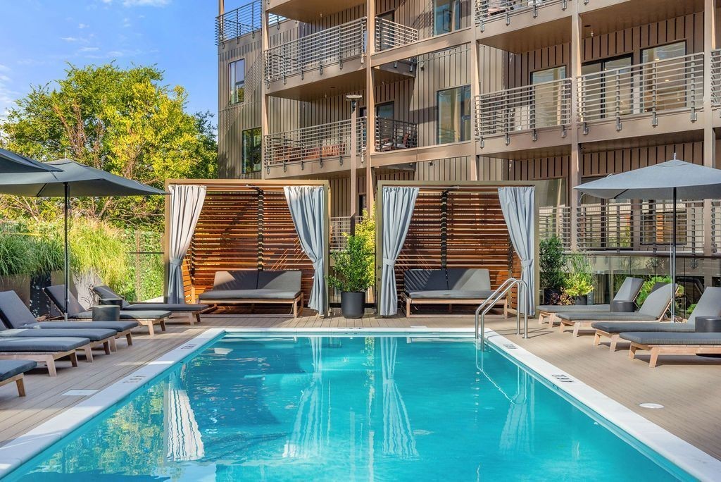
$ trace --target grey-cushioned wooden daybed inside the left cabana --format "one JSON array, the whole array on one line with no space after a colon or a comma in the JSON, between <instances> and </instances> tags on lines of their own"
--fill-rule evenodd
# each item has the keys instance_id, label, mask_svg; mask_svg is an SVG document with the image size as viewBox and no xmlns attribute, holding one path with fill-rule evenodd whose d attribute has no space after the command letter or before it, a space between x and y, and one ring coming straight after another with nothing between
<instances>
[{"instance_id":1,"label":"grey-cushioned wooden daybed inside the left cabana","mask_svg":"<svg viewBox=\"0 0 721 482\"><path fill-rule=\"evenodd\" d=\"M301 271L216 271L213 289L200 294L207 304L293 304L293 317L303 307Z\"/></svg>"}]
</instances>

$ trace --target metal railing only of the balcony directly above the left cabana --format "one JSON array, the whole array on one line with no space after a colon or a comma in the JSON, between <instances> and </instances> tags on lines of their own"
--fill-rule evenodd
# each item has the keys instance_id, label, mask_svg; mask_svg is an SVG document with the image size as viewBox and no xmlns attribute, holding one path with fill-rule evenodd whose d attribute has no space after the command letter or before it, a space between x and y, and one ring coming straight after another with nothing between
<instances>
[{"instance_id":1,"label":"metal railing only of the balcony directly above the left cabana","mask_svg":"<svg viewBox=\"0 0 721 482\"><path fill-rule=\"evenodd\" d=\"M363 154L366 118L358 119L355 149ZM325 159L340 159L350 156L351 121L331 122L319 126L304 127L294 131L269 134L263 139L263 161L265 169L305 162L319 162Z\"/></svg>"}]
</instances>

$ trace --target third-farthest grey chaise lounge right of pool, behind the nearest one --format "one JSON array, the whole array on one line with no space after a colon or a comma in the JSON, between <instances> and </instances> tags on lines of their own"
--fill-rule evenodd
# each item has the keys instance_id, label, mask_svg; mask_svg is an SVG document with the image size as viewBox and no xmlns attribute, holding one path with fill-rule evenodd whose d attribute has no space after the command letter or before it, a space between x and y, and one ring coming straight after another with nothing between
<instances>
[{"instance_id":1,"label":"third-farthest grey chaise lounge right of pool, behind the nearest one","mask_svg":"<svg viewBox=\"0 0 721 482\"><path fill-rule=\"evenodd\" d=\"M600 344L602 337L611 338L610 351L616 351L616 343L619 342L620 334L624 332L694 333L696 330L696 316L721 316L721 288L709 286L704 289L704 293L701 295L701 299L696 304L696 308L694 308L694 312L691 313L687 323L671 323L671 321L601 321L593 323L591 327L596 330L593 345Z\"/></svg>"}]
</instances>

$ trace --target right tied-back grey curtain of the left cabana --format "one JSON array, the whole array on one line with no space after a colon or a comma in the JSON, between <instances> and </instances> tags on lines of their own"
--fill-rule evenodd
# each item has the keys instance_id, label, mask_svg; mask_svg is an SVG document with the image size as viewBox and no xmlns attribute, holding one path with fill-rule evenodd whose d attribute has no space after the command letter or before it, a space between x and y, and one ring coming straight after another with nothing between
<instances>
[{"instance_id":1,"label":"right tied-back grey curtain of the left cabana","mask_svg":"<svg viewBox=\"0 0 721 482\"><path fill-rule=\"evenodd\" d=\"M328 312L328 292L325 286L325 218L326 202L323 186L294 185L283 188L288 209L301 241L301 247L313 262L315 274L308 307L319 315Z\"/></svg>"}]
</instances>

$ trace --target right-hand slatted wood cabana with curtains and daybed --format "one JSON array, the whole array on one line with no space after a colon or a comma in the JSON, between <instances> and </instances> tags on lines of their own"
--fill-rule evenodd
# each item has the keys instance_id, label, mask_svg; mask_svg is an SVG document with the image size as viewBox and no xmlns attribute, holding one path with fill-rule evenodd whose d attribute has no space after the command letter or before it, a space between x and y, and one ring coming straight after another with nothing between
<instances>
[{"instance_id":1,"label":"right-hand slatted wood cabana with curtains and daybed","mask_svg":"<svg viewBox=\"0 0 721 482\"><path fill-rule=\"evenodd\" d=\"M455 304L477 307L511 277L528 284L526 312L533 315L537 206L531 181L379 182L379 315L396 315L399 302L408 317L428 304L448 305L449 314ZM516 296L510 304L516 305ZM505 303L505 297L494 303L503 315Z\"/></svg>"}]
</instances>

